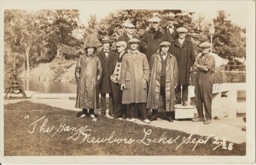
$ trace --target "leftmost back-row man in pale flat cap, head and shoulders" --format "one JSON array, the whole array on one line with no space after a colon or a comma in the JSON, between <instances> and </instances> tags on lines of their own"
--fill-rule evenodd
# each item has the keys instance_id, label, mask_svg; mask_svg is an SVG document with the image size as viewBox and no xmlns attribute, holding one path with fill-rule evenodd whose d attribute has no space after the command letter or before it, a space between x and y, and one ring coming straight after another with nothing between
<instances>
[{"instance_id":1,"label":"leftmost back-row man in pale flat cap, head and shoulders","mask_svg":"<svg viewBox=\"0 0 256 165\"><path fill-rule=\"evenodd\" d=\"M133 34L135 31L135 26L129 22L124 23L124 30L125 34L123 36L120 36L120 38L118 38L117 41L125 41L125 43L127 44L125 51L127 51L131 49L131 46L128 44L129 39L136 38L140 40L140 37ZM138 48L140 49L140 45Z\"/></svg>"}]
</instances>

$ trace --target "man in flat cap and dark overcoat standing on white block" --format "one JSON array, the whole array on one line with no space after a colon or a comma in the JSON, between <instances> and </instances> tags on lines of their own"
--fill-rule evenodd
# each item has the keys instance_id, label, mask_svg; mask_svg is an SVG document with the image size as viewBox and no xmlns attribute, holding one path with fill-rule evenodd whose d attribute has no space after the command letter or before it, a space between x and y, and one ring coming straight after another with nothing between
<instances>
[{"instance_id":1,"label":"man in flat cap and dark overcoat standing on white block","mask_svg":"<svg viewBox=\"0 0 256 165\"><path fill-rule=\"evenodd\" d=\"M179 27L177 32L179 38L172 43L170 51L176 57L179 68L178 85L175 89L175 104L181 104L182 101L182 105L186 106L188 105L189 70L195 62L195 50L192 41L185 38L188 29Z\"/></svg>"}]
</instances>

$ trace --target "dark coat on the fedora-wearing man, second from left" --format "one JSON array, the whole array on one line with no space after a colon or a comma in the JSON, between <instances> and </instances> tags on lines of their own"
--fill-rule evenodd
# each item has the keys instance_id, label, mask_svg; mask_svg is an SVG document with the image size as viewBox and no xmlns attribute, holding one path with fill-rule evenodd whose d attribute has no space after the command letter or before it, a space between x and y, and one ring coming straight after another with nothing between
<instances>
[{"instance_id":1,"label":"dark coat on the fedora-wearing man, second from left","mask_svg":"<svg viewBox=\"0 0 256 165\"><path fill-rule=\"evenodd\" d=\"M100 83L100 89L99 89L100 94L111 93L111 87L110 87L111 71L109 68L109 61L111 57L115 54L116 53L113 52L112 50L109 50L108 57L106 57L103 50L96 54L100 58L101 66L103 69L103 78L102 78L102 82Z\"/></svg>"}]
</instances>

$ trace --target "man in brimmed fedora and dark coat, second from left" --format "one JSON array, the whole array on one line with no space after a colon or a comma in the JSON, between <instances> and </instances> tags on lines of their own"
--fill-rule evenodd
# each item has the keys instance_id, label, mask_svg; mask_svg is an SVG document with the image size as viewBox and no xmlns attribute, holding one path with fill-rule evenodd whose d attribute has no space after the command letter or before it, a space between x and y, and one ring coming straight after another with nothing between
<instances>
[{"instance_id":1,"label":"man in brimmed fedora and dark coat, second from left","mask_svg":"<svg viewBox=\"0 0 256 165\"><path fill-rule=\"evenodd\" d=\"M100 62L103 69L103 78L102 82L100 83L100 114L106 115L106 94L109 94L109 115L113 117L113 97L111 94L111 87L110 87L110 69L109 69L109 61L115 52L109 49L111 40L108 36L102 38L102 50L97 53L97 56L100 58Z\"/></svg>"}]
</instances>

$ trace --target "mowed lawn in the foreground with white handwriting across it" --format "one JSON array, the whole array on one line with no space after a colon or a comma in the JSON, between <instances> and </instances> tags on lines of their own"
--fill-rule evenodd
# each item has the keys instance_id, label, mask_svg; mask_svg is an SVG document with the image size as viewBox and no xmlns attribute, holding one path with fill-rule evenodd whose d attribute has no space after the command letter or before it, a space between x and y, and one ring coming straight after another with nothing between
<instances>
[{"instance_id":1,"label":"mowed lawn in the foreground with white handwriting across it","mask_svg":"<svg viewBox=\"0 0 256 165\"><path fill-rule=\"evenodd\" d=\"M40 118L41 120L38 120ZM143 129L152 131L151 134L148 132L144 140ZM97 139L99 143L93 143ZM220 143L220 147L217 147L218 145L214 144L214 138L209 138L207 141L206 139L205 136L102 116L98 116L97 122L93 122L89 117L77 118L77 111L30 101L4 106L5 156L246 154L245 143L236 144L226 141L226 145L221 145L221 141L217 141ZM150 140L152 140L151 143L149 143ZM168 140L169 143L166 142ZM202 143L196 145L198 140L202 140ZM204 143L203 140L205 140Z\"/></svg>"}]
</instances>

